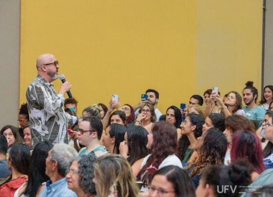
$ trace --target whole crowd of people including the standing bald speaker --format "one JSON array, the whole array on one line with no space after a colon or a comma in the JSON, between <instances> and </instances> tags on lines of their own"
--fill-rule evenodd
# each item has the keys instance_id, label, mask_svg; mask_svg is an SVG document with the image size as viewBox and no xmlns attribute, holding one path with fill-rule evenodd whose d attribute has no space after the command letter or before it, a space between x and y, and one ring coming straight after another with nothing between
<instances>
[{"instance_id":1,"label":"whole crowd of people including the standing bald speaker","mask_svg":"<svg viewBox=\"0 0 273 197\"><path fill-rule=\"evenodd\" d=\"M135 105L110 100L79 115L78 101L64 99L69 82L54 90L55 56L36 67L20 127L0 130L0 197L272 195L272 85L259 102L248 81L242 97L208 89L164 113L148 89Z\"/></svg>"}]
</instances>

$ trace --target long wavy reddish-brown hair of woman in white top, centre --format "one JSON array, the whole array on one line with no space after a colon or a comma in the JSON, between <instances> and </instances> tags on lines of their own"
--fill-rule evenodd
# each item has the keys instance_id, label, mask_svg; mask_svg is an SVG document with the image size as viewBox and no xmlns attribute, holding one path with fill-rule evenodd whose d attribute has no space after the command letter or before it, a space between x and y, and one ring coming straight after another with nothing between
<instances>
[{"instance_id":1,"label":"long wavy reddish-brown hair of woman in white top, centre","mask_svg":"<svg viewBox=\"0 0 273 197\"><path fill-rule=\"evenodd\" d=\"M151 165L158 169L162 161L169 155L175 154L177 149L177 132L173 124L166 121L155 122L151 133L153 134L152 154L137 175L137 179L141 179L144 183L147 183L147 180L150 182L153 176L153 173L146 172L146 169Z\"/></svg>"}]
</instances>

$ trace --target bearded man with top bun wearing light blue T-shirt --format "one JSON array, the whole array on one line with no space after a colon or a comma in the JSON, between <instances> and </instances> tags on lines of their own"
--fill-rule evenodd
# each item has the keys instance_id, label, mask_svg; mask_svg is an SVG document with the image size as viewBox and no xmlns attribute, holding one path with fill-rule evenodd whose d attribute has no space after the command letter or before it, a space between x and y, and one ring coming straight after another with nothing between
<instances>
[{"instance_id":1,"label":"bearded man with top bun wearing light blue T-shirt","mask_svg":"<svg viewBox=\"0 0 273 197\"><path fill-rule=\"evenodd\" d=\"M258 90L253 86L253 81L248 81L246 87L243 90L243 99L246 106L243 106L243 110L246 113L248 119L251 120L263 120L266 110L256 104L258 97Z\"/></svg>"}]
</instances>

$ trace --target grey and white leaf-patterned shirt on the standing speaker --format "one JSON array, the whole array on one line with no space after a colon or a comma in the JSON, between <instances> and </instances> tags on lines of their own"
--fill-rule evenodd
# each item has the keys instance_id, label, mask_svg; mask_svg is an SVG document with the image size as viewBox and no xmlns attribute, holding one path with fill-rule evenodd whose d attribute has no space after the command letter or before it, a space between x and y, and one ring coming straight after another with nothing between
<instances>
[{"instance_id":1,"label":"grey and white leaf-patterned shirt on the standing speaker","mask_svg":"<svg viewBox=\"0 0 273 197\"><path fill-rule=\"evenodd\" d=\"M33 146L44 140L68 143L67 124L74 125L77 117L65 114L64 98L55 92L54 85L38 75L29 84L26 99Z\"/></svg>"}]
</instances>

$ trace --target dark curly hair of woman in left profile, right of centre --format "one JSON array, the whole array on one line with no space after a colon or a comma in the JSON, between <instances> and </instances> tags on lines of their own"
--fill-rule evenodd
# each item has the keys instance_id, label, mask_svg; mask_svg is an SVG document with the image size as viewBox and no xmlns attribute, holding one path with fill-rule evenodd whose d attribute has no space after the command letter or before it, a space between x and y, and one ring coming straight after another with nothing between
<instances>
[{"instance_id":1,"label":"dark curly hair of woman in left profile, right of centre","mask_svg":"<svg viewBox=\"0 0 273 197\"><path fill-rule=\"evenodd\" d=\"M202 135L202 126L205 123L205 118L199 114L188 114L187 116L191 123L196 126L194 134L195 138L199 138ZM178 141L177 157L182 161L185 157L187 148L190 145L190 140L186 135L182 135Z\"/></svg>"}]
</instances>

